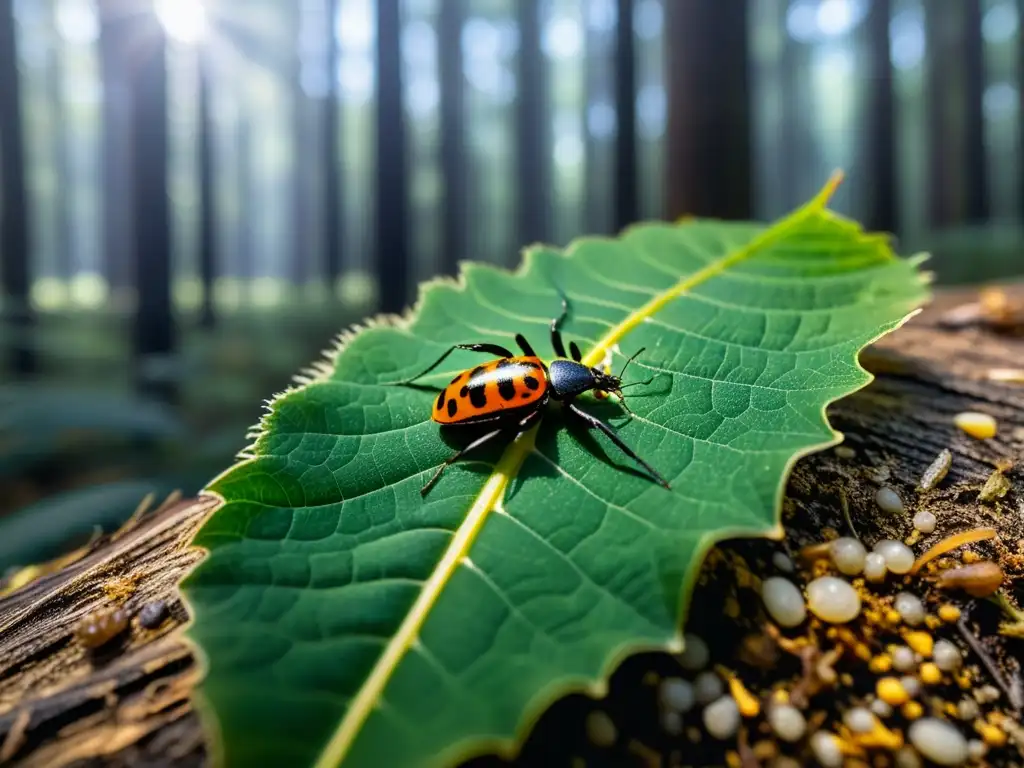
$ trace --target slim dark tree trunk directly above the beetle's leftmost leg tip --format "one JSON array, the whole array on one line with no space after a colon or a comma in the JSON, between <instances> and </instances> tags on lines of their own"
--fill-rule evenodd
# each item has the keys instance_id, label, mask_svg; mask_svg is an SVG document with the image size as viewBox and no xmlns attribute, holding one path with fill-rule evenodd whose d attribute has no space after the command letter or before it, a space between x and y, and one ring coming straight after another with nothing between
<instances>
[{"instance_id":1,"label":"slim dark tree trunk directly above the beetle's leftmost leg tip","mask_svg":"<svg viewBox=\"0 0 1024 768\"><path fill-rule=\"evenodd\" d=\"M399 0L377 2L377 288L380 310L409 301L409 172Z\"/></svg>"}]
</instances>

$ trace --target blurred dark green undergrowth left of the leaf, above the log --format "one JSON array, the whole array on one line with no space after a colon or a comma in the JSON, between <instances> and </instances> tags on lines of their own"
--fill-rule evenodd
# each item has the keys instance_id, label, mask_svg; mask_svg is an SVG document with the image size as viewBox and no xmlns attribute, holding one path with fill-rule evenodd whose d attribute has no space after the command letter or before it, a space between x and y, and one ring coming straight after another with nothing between
<instances>
[{"instance_id":1,"label":"blurred dark green undergrowth left of the leaf, above the log","mask_svg":"<svg viewBox=\"0 0 1024 768\"><path fill-rule=\"evenodd\" d=\"M185 319L159 366L171 402L136 393L131 317L46 313L17 339L37 372L0 384L0 571L112 530L146 494L199 492L248 444L262 403L316 359L365 306L234 312L212 330ZM0 336L4 347L14 341Z\"/></svg>"}]
</instances>

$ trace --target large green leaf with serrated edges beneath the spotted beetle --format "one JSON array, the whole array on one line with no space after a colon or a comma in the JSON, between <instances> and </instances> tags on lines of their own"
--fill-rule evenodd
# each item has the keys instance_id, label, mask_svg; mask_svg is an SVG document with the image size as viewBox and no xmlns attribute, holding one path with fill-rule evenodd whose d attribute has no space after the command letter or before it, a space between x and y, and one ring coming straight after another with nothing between
<instances>
[{"instance_id":1,"label":"large green leaf with serrated edges beneath the spotted beetle","mask_svg":"<svg viewBox=\"0 0 1024 768\"><path fill-rule=\"evenodd\" d=\"M513 752L554 698L599 690L625 654L680 648L707 549L778 531L788 469L840 439L825 406L870 378L858 351L926 297L915 261L825 210L835 183L771 227L650 223L535 247L515 274L467 265L275 398L251 456L210 486L224 504L186 582L226 763ZM383 384L516 332L550 357L556 285L590 365L646 347L627 378L657 378L628 390L635 418L584 406L671 492L552 413L421 498L464 439L430 421L434 393ZM424 383L485 359L459 351Z\"/></svg>"}]
</instances>

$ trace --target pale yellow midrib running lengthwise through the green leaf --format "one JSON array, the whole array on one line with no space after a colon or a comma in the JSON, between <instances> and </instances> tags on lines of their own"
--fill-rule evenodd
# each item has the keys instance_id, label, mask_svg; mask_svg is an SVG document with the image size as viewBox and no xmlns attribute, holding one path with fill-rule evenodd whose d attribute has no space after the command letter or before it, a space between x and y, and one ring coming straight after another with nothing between
<instances>
[{"instance_id":1,"label":"pale yellow midrib running lengthwise through the green leaf","mask_svg":"<svg viewBox=\"0 0 1024 768\"><path fill-rule=\"evenodd\" d=\"M583 362L587 366L599 365L604 359L606 351L643 323L644 318L655 314L669 302L694 287L750 258L769 244L781 239L807 217L823 210L842 179L842 173L837 171L821 191L809 203L780 219L774 226L765 229L742 248L709 263L667 291L653 296L650 301L632 312L622 323L609 329L604 337L584 355ZM384 652L377 659L366 682L351 699L345 716L341 719L338 728L332 734L330 741L316 761L317 768L334 768L341 765L345 759L362 725L380 700L392 673L397 669L407 651L417 642L420 630L430 615L430 610L440 597L444 586L459 564L468 557L469 549L483 527L487 515L494 510L501 511L502 500L509 482L516 476L526 457L534 451L539 427L540 425L535 426L514 440L502 454L501 459L495 465L494 472L473 501L466 518L456 529L455 536L444 550L437 566L423 583L423 588L406 618L388 642Z\"/></svg>"}]
</instances>

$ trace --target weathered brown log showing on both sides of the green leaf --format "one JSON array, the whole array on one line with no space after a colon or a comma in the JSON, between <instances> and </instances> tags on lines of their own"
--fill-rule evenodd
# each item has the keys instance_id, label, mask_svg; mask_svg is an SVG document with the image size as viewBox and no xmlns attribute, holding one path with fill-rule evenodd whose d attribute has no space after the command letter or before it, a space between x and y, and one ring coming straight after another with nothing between
<instances>
[{"instance_id":1,"label":"weathered brown log showing on both sides of the green leaf","mask_svg":"<svg viewBox=\"0 0 1024 768\"><path fill-rule=\"evenodd\" d=\"M1024 297L1024 287L1017 293ZM829 415L847 442L887 467L890 484L903 489L912 488L935 455L948 447L952 470L946 489L934 495L942 515L964 527L993 525L1012 547L1024 539L1024 515L1007 511L1019 509L1024 494L1012 490L1001 502L1004 513L996 514L965 487L980 487L993 462L1024 456L1024 385L986 379L991 368L1024 365L1024 337L980 327L943 329L942 312L965 298L943 296L866 351L862 361L877 381ZM977 441L959 433L951 417L969 409L994 416L998 436ZM788 539L797 545L816 541L823 525L836 525L836 499L822 488L862 471L833 452L800 462L790 483ZM1008 476L1022 485L1020 469ZM874 514L869 483L849 487L862 532L893 525ZM142 515L83 559L0 600L0 763L205 762L200 721L189 702L199 673L180 637L186 613L175 585L201 557L187 543L211 507L209 500L190 500ZM72 638L90 611L121 602L136 610L155 599L168 601L171 616L155 631L133 621L116 652L89 655Z\"/></svg>"}]
</instances>

